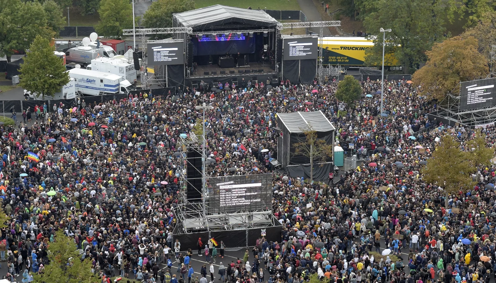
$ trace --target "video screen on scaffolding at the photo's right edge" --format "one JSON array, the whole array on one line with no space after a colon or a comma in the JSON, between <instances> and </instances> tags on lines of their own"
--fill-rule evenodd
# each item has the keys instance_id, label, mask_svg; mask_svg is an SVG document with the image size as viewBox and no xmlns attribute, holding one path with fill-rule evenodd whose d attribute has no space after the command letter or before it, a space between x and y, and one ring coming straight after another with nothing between
<instances>
[{"instance_id":1,"label":"video screen on scaffolding at the photo's right edge","mask_svg":"<svg viewBox=\"0 0 496 283\"><path fill-rule=\"evenodd\" d=\"M460 110L496 105L496 78L462 82L460 84Z\"/></svg>"}]
</instances>

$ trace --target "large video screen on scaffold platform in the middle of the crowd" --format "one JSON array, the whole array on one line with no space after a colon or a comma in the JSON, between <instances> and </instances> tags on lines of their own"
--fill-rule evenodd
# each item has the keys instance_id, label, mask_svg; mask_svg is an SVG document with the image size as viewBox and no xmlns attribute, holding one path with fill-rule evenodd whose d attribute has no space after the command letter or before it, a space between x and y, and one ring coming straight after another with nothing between
<instances>
[{"instance_id":1,"label":"large video screen on scaffold platform in the middle of the crowd","mask_svg":"<svg viewBox=\"0 0 496 283\"><path fill-rule=\"evenodd\" d=\"M272 175L253 174L208 179L209 212L267 210L272 202Z\"/></svg>"}]
</instances>

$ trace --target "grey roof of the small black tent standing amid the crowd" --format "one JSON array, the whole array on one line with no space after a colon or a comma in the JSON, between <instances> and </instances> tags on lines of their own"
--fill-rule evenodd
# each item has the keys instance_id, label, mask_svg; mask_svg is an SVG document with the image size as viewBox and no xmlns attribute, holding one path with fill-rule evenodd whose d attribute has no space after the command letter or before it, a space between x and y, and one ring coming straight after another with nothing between
<instances>
[{"instance_id":1,"label":"grey roof of the small black tent standing amid the crowd","mask_svg":"<svg viewBox=\"0 0 496 283\"><path fill-rule=\"evenodd\" d=\"M290 133L301 134L303 130L311 127L317 132L334 131L336 128L325 117L322 111L277 113L277 117L283 123L284 128ZM281 128L282 125L279 125Z\"/></svg>"}]
</instances>

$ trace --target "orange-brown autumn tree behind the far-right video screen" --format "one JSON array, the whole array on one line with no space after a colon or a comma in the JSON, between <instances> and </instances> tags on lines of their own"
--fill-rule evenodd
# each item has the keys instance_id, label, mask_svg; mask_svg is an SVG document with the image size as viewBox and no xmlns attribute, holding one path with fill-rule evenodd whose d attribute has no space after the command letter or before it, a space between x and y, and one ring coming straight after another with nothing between
<instances>
[{"instance_id":1,"label":"orange-brown autumn tree behind the far-right video screen","mask_svg":"<svg viewBox=\"0 0 496 283\"><path fill-rule=\"evenodd\" d=\"M412 76L415 85L422 86L420 93L443 99L460 82L486 77L488 61L478 50L473 37L454 37L434 44L427 51L427 63Z\"/></svg>"}]
</instances>

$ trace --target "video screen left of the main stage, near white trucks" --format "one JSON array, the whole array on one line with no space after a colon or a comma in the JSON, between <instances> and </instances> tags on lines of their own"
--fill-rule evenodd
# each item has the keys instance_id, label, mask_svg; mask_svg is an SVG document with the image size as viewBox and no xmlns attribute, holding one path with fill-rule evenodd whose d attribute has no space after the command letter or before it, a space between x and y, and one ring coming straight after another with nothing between
<instances>
[{"instance_id":1,"label":"video screen left of the main stage, near white trucks","mask_svg":"<svg viewBox=\"0 0 496 283\"><path fill-rule=\"evenodd\" d=\"M180 65L184 64L184 44L154 43L148 44L148 65Z\"/></svg>"}]
</instances>

